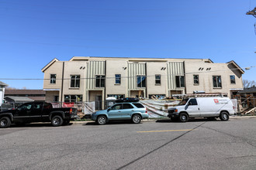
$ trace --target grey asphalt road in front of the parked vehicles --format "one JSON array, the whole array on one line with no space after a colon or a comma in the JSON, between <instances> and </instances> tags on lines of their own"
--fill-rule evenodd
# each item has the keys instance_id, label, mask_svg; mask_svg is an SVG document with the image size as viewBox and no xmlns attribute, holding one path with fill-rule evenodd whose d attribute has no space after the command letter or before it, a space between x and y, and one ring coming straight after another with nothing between
<instances>
[{"instance_id":1,"label":"grey asphalt road in front of the parked vehicles","mask_svg":"<svg viewBox=\"0 0 256 170\"><path fill-rule=\"evenodd\" d=\"M0 169L255 169L256 118L0 129Z\"/></svg>"}]
</instances>

